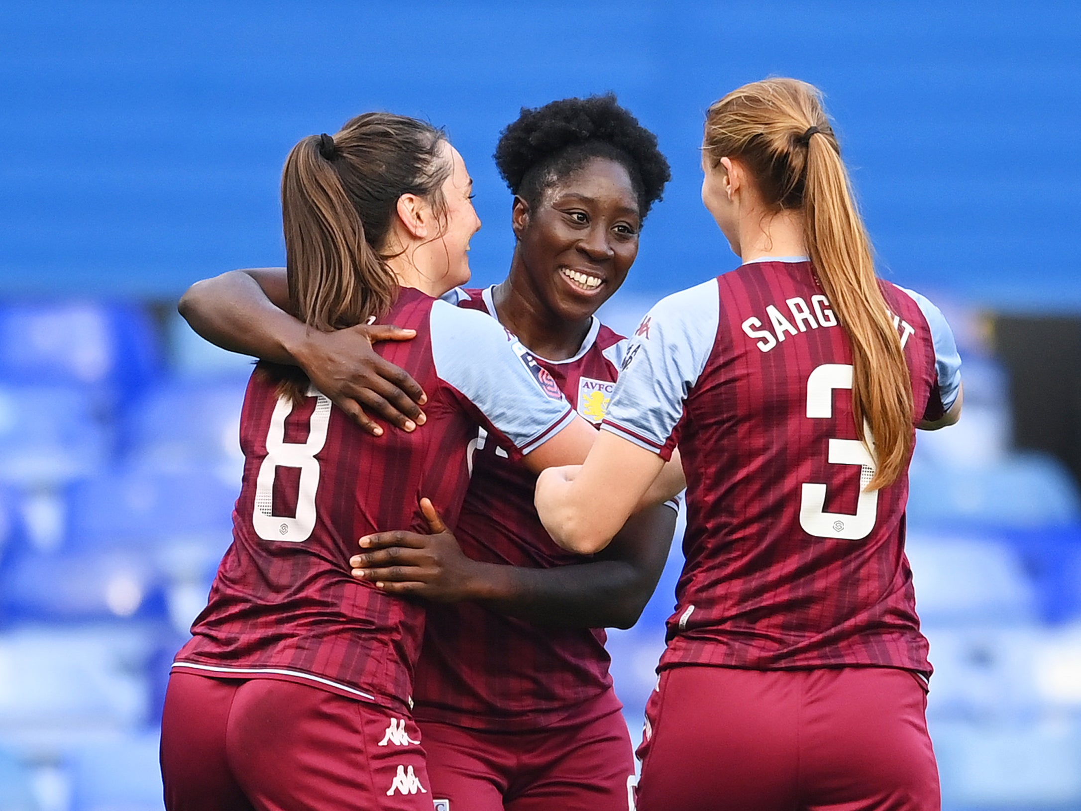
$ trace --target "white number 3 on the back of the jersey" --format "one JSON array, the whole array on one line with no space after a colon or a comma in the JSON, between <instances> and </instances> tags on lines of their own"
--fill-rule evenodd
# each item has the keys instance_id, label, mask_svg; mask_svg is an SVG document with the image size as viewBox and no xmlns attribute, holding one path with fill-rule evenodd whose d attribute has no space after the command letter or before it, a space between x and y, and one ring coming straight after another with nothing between
<instances>
[{"instance_id":1,"label":"white number 3 on the back of the jersey","mask_svg":"<svg viewBox=\"0 0 1081 811\"><path fill-rule=\"evenodd\" d=\"M848 363L824 363L808 377L808 416L812 420L828 420L833 416L833 390L852 388L852 367ZM870 426L864 422L864 436L873 449L875 438ZM831 465L859 465L859 501L856 514L826 513L826 486L804 483L800 500L800 527L815 537L838 537L859 541L875 529L878 518L878 491L867 492L875 477L875 456L858 439L830 439L827 461Z\"/></svg>"}]
</instances>

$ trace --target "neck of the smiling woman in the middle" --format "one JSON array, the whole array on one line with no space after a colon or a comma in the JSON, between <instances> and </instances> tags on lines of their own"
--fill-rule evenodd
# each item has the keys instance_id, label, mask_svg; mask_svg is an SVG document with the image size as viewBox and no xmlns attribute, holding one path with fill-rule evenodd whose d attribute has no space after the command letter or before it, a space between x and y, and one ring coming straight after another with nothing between
<instances>
[{"instance_id":1,"label":"neck of the smiling woman in the middle","mask_svg":"<svg viewBox=\"0 0 1081 811\"><path fill-rule=\"evenodd\" d=\"M545 360L566 360L582 348L589 334L592 318L566 320L542 305L542 298L531 291L523 291L521 282L511 274L492 291L494 315L512 332L522 345Z\"/></svg>"}]
</instances>

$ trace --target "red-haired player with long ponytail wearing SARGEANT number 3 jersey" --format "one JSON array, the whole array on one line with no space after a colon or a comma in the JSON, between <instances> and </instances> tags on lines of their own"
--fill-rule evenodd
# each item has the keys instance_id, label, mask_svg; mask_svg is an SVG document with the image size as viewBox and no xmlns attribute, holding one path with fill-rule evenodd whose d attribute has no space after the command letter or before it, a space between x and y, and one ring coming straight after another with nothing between
<instances>
[{"instance_id":1,"label":"red-haired player with long ponytail wearing SARGEANT number 3 jersey","mask_svg":"<svg viewBox=\"0 0 1081 811\"><path fill-rule=\"evenodd\" d=\"M557 542L596 553L682 453L686 563L638 808L937 809L905 504L913 428L960 413L952 335L876 278L813 87L713 104L703 170L744 264L651 310L585 465L536 489Z\"/></svg>"}]
</instances>

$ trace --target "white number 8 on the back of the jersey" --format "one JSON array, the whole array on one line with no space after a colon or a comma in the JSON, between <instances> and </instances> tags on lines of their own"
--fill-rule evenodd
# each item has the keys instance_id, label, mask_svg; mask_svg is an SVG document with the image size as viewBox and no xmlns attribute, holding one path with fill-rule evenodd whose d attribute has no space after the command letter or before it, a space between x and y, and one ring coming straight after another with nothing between
<instances>
[{"instance_id":1,"label":"white number 8 on the back of the jersey","mask_svg":"<svg viewBox=\"0 0 1081 811\"><path fill-rule=\"evenodd\" d=\"M316 454L323 450L326 442L331 401L315 388L308 389L308 396L316 398L316 410L311 413L307 441L285 441L285 417L293 411L292 400L279 397L270 416L267 455L255 480L255 509L252 511L252 527L264 541L299 543L307 541L316 528L316 490L319 487ZM301 469L296 511L292 517L273 515L273 480L279 467Z\"/></svg>"}]
</instances>

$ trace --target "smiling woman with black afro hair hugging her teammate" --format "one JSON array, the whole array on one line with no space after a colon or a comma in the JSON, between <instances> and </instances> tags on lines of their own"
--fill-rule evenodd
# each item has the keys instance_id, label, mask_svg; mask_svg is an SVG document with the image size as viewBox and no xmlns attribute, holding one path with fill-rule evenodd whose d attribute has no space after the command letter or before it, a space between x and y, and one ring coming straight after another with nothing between
<instances>
[{"instance_id":1,"label":"smiling woman with black afro hair hugging her teammate","mask_svg":"<svg viewBox=\"0 0 1081 811\"><path fill-rule=\"evenodd\" d=\"M497 318L537 357L535 373L599 425L627 341L595 314L635 262L668 163L611 94L522 109L495 160L513 195L510 269L499 284L457 291L456 303ZM299 365L373 433L383 429L361 407L424 429L419 387L370 346L411 333L308 333L280 309L286 302L282 270L237 270L192 287L181 309L219 346ZM430 534L361 539L350 561L390 594L443 603L428 611L413 695L436 808L627 811L635 767L603 628L638 620L675 508L636 514L600 555L564 553L533 507L536 477L484 431L475 444L453 533L426 506Z\"/></svg>"}]
</instances>

